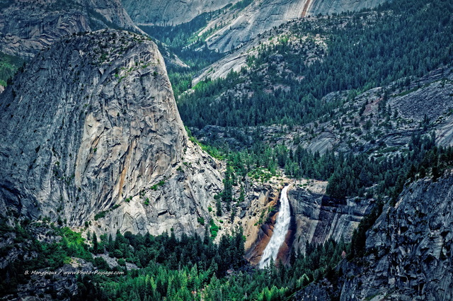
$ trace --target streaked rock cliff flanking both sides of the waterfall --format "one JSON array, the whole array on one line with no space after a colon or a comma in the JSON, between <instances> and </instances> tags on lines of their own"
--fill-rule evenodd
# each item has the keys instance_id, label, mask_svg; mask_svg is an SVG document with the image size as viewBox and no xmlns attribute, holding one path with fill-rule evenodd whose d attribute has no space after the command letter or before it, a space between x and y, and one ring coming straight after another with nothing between
<instances>
[{"instance_id":1,"label":"streaked rock cliff flanking both sides of the waterfall","mask_svg":"<svg viewBox=\"0 0 453 301\"><path fill-rule=\"evenodd\" d=\"M291 181L288 179L288 182ZM292 180L294 181L294 180ZM290 184L287 197L291 208L292 220L285 236L285 243L277 256L282 263L289 262L289 252L305 252L306 243L323 244L328 239L349 242L352 232L362 217L372 210L372 201L348 200L338 202L325 195L327 182L302 180ZM275 220L279 214L281 186L264 186L259 197L244 204L246 210L241 225L246 235L246 259L256 265L261 259L263 249L273 236ZM244 218L248 217L248 218Z\"/></svg>"}]
</instances>

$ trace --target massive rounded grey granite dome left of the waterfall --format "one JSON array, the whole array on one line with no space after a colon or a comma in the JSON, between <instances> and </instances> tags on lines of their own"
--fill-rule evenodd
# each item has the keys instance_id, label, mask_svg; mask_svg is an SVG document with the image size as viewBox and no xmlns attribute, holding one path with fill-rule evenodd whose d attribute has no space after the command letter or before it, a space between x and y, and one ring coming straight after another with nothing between
<instances>
[{"instance_id":1,"label":"massive rounded grey granite dome left of the waterfall","mask_svg":"<svg viewBox=\"0 0 453 301\"><path fill-rule=\"evenodd\" d=\"M116 30L40 52L0 96L0 207L96 231L204 232L219 164L188 140L156 45Z\"/></svg>"}]
</instances>

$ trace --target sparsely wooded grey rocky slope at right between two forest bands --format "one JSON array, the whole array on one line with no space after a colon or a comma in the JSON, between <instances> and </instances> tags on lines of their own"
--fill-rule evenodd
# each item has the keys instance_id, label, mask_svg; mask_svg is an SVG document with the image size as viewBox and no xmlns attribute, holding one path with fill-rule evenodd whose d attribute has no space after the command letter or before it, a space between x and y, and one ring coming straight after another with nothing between
<instances>
[{"instance_id":1,"label":"sparsely wooded grey rocky slope at right between two forest bands","mask_svg":"<svg viewBox=\"0 0 453 301\"><path fill-rule=\"evenodd\" d=\"M385 102L384 91L389 91L394 84L365 91L352 101L347 101L345 94L332 93L324 100L343 98L345 104L338 110L338 116L342 117L327 122L319 120L318 125L311 124L317 128L314 133L301 128L302 131L293 132L280 141L297 138L304 148L321 154L335 148L356 153L373 151L381 156L404 151L412 135L434 130L437 145L452 146L452 79L452 69L437 69L423 78L414 79L409 86L389 93L386 106L393 112L393 118L386 119L379 103ZM344 118L344 115L355 118Z\"/></svg>"}]
</instances>

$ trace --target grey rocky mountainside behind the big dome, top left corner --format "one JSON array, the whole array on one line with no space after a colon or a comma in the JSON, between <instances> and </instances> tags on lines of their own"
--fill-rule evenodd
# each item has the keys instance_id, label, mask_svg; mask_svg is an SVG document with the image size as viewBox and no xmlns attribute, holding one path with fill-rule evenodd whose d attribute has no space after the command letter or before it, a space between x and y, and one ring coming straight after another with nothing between
<instances>
[{"instance_id":1,"label":"grey rocky mountainside behind the big dome, top left corner","mask_svg":"<svg viewBox=\"0 0 453 301\"><path fill-rule=\"evenodd\" d=\"M0 11L0 51L30 59L65 35L124 28L139 30L120 0L23 0L5 2Z\"/></svg>"}]
</instances>

